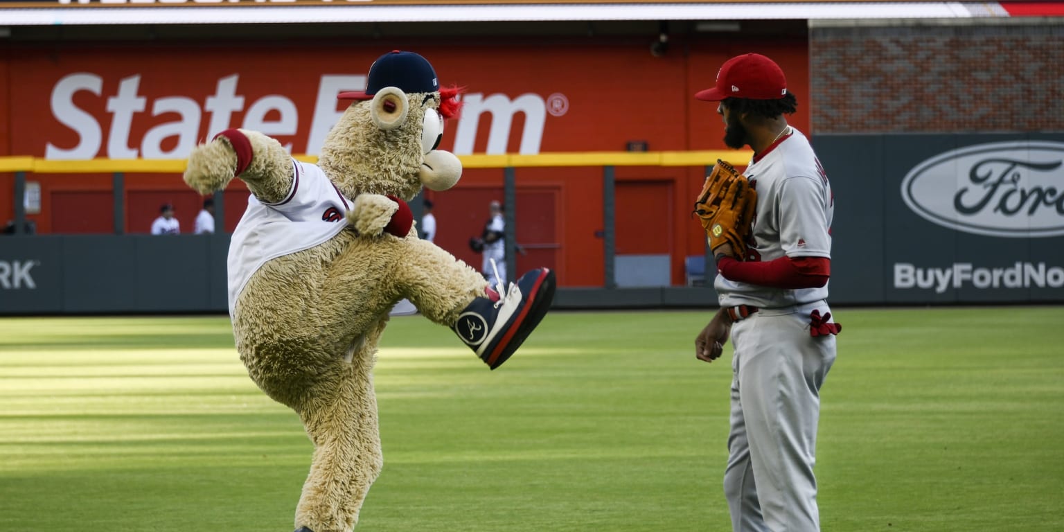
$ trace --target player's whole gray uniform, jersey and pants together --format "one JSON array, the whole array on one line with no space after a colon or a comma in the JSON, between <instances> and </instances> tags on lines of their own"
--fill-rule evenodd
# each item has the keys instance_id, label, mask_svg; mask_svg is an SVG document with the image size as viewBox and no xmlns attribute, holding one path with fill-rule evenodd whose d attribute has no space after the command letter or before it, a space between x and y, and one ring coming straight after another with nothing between
<instances>
[{"instance_id":1,"label":"player's whole gray uniform, jersey and pants together","mask_svg":"<svg viewBox=\"0 0 1064 532\"><path fill-rule=\"evenodd\" d=\"M747 166L758 190L747 260L831 256L833 198L809 140L797 130ZM731 329L731 419L725 494L735 532L820 530L816 428L820 386L835 362L835 337L812 336L826 316L828 287L783 289L717 276L722 306L760 307Z\"/></svg>"}]
</instances>

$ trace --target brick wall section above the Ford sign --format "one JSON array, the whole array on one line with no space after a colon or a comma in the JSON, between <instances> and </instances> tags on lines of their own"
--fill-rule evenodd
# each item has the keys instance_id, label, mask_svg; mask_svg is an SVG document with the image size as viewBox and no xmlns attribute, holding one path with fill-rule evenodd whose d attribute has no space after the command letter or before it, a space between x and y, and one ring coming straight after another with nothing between
<instances>
[{"instance_id":1,"label":"brick wall section above the Ford sign","mask_svg":"<svg viewBox=\"0 0 1064 532\"><path fill-rule=\"evenodd\" d=\"M1060 132L1064 26L814 27L810 86L814 134Z\"/></svg>"}]
</instances>

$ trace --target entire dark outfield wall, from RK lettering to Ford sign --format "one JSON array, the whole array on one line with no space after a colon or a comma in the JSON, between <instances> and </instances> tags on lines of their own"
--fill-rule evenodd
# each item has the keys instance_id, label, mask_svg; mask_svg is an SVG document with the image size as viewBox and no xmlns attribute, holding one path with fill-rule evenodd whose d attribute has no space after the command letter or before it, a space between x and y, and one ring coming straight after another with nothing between
<instances>
[{"instance_id":1,"label":"entire dark outfield wall, from RK lettering to Ford sign","mask_svg":"<svg viewBox=\"0 0 1064 532\"><path fill-rule=\"evenodd\" d=\"M1064 134L814 145L835 197L832 302L1064 302ZM0 314L225 312L228 246L227 234L4 236ZM711 288L566 286L555 305L715 302Z\"/></svg>"}]
</instances>

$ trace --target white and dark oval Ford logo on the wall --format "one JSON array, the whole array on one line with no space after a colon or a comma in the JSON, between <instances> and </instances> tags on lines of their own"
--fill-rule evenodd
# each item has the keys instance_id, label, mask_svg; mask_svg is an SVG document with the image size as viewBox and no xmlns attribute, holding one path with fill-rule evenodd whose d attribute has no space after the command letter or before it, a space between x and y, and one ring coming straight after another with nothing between
<instances>
[{"instance_id":1,"label":"white and dark oval Ford logo on the wall","mask_svg":"<svg viewBox=\"0 0 1064 532\"><path fill-rule=\"evenodd\" d=\"M1018 140L966 146L931 157L901 181L914 213L967 233L1064 235L1064 144Z\"/></svg>"}]
</instances>

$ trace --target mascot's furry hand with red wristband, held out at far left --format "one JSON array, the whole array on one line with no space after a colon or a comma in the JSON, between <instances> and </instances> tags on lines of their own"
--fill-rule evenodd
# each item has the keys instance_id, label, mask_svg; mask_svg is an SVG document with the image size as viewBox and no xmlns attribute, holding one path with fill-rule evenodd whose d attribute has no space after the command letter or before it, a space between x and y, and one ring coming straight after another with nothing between
<instances>
[{"instance_id":1,"label":"mascot's furry hand with red wristband, held out at far left","mask_svg":"<svg viewBox=\"0 0 1064 532\"><path fill-rule=\"evenodd\" d=\"M251 161L251 144L239 130L227 130L213 140L193 148L184 180L194 190L206 195L220 190L239 176Z\"/></svg>"}]
</instances>

